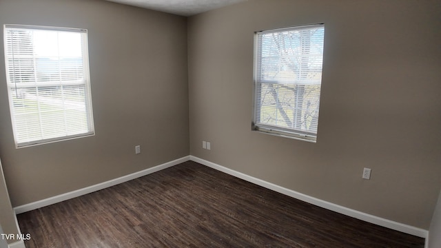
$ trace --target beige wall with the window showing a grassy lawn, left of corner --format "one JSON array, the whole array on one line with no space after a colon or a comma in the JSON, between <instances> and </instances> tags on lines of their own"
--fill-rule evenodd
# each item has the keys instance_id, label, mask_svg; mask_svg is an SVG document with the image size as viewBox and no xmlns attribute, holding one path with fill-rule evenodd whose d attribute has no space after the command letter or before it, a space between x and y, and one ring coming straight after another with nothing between
<instances>
[{"instance_id":1,"label":"beige wall with the window showing a grassy lawn, left of corner","mask_svg":"<svg viewBox=\"0 0 441 248\"><path fill-rule=\"evenodd\" d=\"M15 149L2 31L0 157L13 206L189 154L185 17L101 0L1 0L5 23L88 29L96 131ZM135 145L141 154L134 154Z\"/></svg>"}]
</instances>

